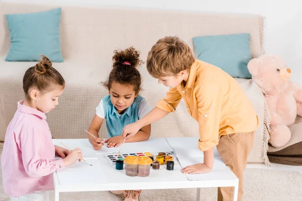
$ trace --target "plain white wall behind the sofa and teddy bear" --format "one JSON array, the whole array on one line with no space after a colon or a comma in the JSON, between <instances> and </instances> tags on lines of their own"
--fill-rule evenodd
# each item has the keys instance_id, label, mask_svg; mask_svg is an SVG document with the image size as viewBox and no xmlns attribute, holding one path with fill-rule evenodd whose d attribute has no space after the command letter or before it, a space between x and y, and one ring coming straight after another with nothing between
<instances>
[{"instance_id":1,"label":"plain white wall behind the sofa and teddy bear","mask_svg":"<svg viewBox=\"0 0 302 201\"><path fill-rule=\"evenodd\" d=\"M1 1L1 0L0 0ZM4 0L3 0L4 1ZM59 5L118 6L253 13L266 17L265 50L280 54L292 70L292 80L302 85L302 1L300 0L5 0Z\"/></svg>"}]
</instances>

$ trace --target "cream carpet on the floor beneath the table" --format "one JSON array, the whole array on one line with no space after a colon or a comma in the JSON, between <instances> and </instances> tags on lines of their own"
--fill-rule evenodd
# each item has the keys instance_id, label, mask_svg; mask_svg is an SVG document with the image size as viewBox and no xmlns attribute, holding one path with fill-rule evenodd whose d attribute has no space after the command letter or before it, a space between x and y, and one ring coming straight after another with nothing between
<instances>
[{"instance_id":1,"label":"cream carpet on the floor beneath the table","mask_svg":"<svg viewBox=\"0 0 302 201\"><path fill-rule=\"evenodd\" d=\"M0 145L1 146L1 145ZM0 153L2 149L0 149ZM246 169L244 172L244 201L293 201L302 200L302 175L299 172L275 171L264 169ZM9 200L2 187L2 174L0 174L0 200ZM217 200L216 188L201 188L200 200ZM123 195L110 192L65 192L60 193L61 201L83 200L123 200ZM54 200L51 192L50 200ZM141 201L164 200L196 200L196 189L170 189L170 190L143 190Z\"/></svg>"}]
</instances>

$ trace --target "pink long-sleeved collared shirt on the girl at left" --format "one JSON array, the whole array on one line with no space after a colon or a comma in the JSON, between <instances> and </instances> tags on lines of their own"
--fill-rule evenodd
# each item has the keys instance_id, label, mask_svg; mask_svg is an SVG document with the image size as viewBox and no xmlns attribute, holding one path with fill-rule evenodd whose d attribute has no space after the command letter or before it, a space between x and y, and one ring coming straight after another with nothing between
<instances>
[{"instance_id":1,"label":"pink long-sleeved collared shirt on the girl at left","mask_svg":"<svg viewBox=\"0 0 302 201\"><path fill-rule=\"evenodd\" d=\"M8 126L1 158L3 188L10 196L52 190L52 172L64 167L62 159L54 161L45 114L23 103Z\"/></svg>"}]
</instances>

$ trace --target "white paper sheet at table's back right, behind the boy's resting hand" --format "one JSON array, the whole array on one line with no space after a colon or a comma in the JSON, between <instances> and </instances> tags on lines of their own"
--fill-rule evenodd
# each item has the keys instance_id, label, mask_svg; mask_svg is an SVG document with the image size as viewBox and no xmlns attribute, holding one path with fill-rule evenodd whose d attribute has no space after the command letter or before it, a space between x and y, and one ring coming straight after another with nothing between
<instances>
[{"instance_id":1,"label":"white paper sheet at table's back right, behind the boy's resting hand","mask_svg":"<svg viewBox=\"0 0 302 201\"><path fill-rule=\"evenodd\" d=\"M167 141L177 157L203 157L203 152L198 149L198 139L198 137L167 138ZM216 148L214 148L214 156L219 156Z\"/></svg>"}]
</instances>

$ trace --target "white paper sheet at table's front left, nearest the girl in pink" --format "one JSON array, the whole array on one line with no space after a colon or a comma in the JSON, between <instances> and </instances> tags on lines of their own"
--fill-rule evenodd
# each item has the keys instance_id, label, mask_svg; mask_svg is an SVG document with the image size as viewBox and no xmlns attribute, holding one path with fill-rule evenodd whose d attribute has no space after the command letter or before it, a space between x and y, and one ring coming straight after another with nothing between
<instances>
[{"instance_id":1,"label":"white paper sheet at table's front left, nearest the girl in pink","mask_svg":"<svg viewBox=\"0 0 302 201\"><path fill-rule=\"evenodd\" d=\"M92 164L92 166L82 161L57 170L60 185L108 183L107 177L104 171L102 171L100 161L98 159L86 159L86 161Z\"/></svg>"}]
</instances>

